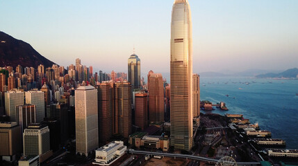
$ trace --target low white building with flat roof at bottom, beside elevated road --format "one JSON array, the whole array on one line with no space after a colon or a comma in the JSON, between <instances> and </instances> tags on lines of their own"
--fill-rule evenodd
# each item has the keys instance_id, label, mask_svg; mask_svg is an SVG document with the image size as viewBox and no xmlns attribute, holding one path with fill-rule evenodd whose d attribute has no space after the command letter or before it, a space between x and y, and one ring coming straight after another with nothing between
<instances>
[{"instance_id":1,"label":"low white building with flat roof at bottom, beside elevated road","mask_svg":"<svg viewBox=\"0 0 298 166\"><path fill-rule=\"evenodd\" d=\"M122 141L110 142L96 150L95 162L93 164L110 165L123 156L125 151L126 146L124 146Z\"/></svg>"}]
</instances>

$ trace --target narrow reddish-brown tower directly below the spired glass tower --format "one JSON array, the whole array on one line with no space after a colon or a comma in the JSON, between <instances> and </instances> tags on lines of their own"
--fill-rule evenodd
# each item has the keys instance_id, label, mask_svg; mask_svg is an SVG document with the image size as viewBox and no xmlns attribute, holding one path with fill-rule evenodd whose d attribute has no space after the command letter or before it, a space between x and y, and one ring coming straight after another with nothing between
<instances>
[{"instance_id":1,"label":"narrow reddish-brown tower directly below the spired glass tower","mask_svg":"<svg viewBox=\"0 0 298 166\"><path fill-rule=\"evenodd\" d=\"M148 127L148 95L144 92L135 93L135 126Z\"/></svg>"}]
</instances>

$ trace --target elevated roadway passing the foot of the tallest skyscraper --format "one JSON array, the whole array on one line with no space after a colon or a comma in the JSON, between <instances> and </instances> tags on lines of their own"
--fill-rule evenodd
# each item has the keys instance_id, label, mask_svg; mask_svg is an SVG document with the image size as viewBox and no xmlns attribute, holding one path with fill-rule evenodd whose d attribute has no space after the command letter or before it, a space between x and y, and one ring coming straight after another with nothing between
<instances>
[{"instance_id":1,"label":"elevated roadway passing the foot of the tallest skyscraper","mask_svg":"<svg viewBox=\"0 0 298 166\"><path fill-rule=\"evenodd\" d=\"M206 161L209 163L217 163L217 159L214 158L206 158L206 157L201 157L201 156L192 156L188 154L167 154L167 153L160 153L160 152L152 152L152 151L138 151L134 149L127 149L126 153L130 154L150 154L152 156L157 155L157 156L167 156L167 157L174 157L174 158L186 158L186 159L193 159L193 160L201 160L201 161ZM260 165L259 162L238 162L237 165Z\"/></svg>"}]
</instances>

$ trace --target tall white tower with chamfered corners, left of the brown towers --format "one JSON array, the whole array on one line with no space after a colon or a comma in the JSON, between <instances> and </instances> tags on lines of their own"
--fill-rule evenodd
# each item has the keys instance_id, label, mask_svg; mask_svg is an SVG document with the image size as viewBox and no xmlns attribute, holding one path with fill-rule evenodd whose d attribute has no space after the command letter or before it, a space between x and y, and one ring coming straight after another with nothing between
<instances>
[{"instance_id":1,"label":"tall white tower with chamfered corners, left of the brown towers","mask_svg":"<svg viewBox=\"0 0 298 166\"><path fill-rule=\"evenodd\" d=\"M88 156L98 148L97 89L80 86L75 91L76 153Z\"/></svg>"}]
</instances>

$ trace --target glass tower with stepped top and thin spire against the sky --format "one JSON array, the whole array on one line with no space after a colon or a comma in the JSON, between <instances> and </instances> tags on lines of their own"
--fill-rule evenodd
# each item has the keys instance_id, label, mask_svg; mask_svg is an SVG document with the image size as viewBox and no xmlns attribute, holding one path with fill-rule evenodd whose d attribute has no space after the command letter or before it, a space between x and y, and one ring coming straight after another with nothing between
<instances>
[{"instance_id":1,"label":"glass tower with stepped top and thin spire against the sky","mask_svg":"<svg viewBox=\"0 0 298 166\"><path fill-rule=\"evenodd\" d=\"M129 57L129 82L132 89L140 89L141 85L141 60L138 55Z\"/></svg>"}]
</instances>

